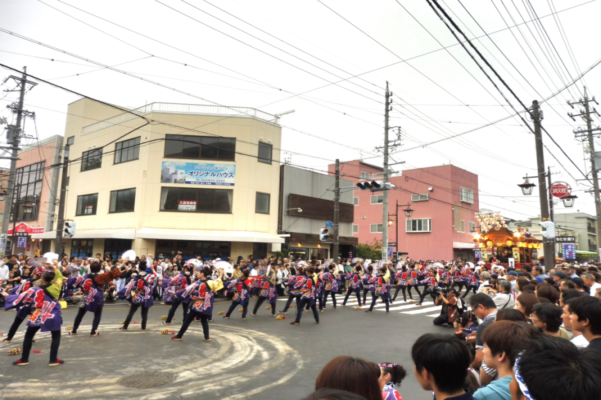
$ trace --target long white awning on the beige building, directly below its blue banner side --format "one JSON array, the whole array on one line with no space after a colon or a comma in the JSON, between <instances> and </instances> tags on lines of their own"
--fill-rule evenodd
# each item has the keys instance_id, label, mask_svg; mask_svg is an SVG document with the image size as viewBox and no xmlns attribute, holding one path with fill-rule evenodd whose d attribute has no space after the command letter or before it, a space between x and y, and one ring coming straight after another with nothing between
<instances>
[{"instance_id":1,"label":"long white awning on the beige building, directly below its blue banner side","mask_svg":"<svg viewBox=\"0 0 601 400\"><path fill-rule=\"evenodd\" d=\"M284 237L265 232L245 230L200 230L142 228L136 233L141 239L224 240L228 242L284 243Z\"/></svg>"}]
</instances>

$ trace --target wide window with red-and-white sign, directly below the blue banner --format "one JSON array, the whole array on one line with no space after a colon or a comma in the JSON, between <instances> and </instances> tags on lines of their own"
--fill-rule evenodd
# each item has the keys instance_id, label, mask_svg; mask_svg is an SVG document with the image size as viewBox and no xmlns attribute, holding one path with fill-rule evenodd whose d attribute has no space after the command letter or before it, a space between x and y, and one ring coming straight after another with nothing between
<instances>
[{"instance_id":1,"label":"wide window with red-and-white sign, directly below the blue banner","mask_svg":"<svg viewBox=\"0 0 601 400\"><path fill-rule=\"evenodd\" d=\"M160 210L231 213L233 193L233 190L163 187L160 190Z\"/></svg>"}]
</instances>

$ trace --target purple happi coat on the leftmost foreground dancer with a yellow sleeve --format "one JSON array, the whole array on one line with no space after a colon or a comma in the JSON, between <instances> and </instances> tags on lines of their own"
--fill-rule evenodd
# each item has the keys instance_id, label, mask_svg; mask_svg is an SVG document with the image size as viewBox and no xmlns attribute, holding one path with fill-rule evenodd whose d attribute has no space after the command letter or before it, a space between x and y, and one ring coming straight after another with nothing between
<instances>
[{"instance_id":1,"label":"purple happi coat on the leftmost foreground dancer with a yellow sleeve","mask_svg":"<svg viewBox=\"0 0 601 400\"><path fill-rule=\"evenodd\" d=\"M29 306L33 312L27 320L27 326L41 327L41 332L53 332L61 329L61 305L58 300L47 296L40 287L30 287L19 294L6 297L5 309Z\"/></svg>"}]
</instances>

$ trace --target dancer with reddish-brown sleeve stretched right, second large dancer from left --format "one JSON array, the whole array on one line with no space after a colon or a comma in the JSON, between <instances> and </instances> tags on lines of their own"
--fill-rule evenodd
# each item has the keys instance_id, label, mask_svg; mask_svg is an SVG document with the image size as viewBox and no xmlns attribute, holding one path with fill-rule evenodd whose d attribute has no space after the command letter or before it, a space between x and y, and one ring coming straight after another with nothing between
<instances>
[{"instance_id":1,"label":"dancer with reddish-brown sleeve stretched right, second large dancer from left","mask_svg":"<svg viewBox=\"0 0 601 400\"><path fill-rule=\"evenodd\" d=\"M123 264L121 264L123 265ZM67 287L74 288L79 287L84 291L85 305L79 308L78 314L73 322L73 330L69 332L69 335L77 335L79 324L86 312L90 311L94 314L94 320L92 322L92 330L90 336L98 336L100 333L96 330L100 324L100 318L102 317L102 309L105 306L104 299L104 287L105 284L112 282L121 276L119 268L115 268L109 272L100 272L100 263L95 261L90 264L90 273L84 276L78 276L76 278L67 278Z\"/></svg>"}]
</instances>

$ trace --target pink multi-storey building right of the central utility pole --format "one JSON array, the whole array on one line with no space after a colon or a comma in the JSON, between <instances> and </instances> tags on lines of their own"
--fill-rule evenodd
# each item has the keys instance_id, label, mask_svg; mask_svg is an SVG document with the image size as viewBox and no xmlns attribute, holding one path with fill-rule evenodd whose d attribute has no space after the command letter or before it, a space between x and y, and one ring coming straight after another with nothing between
<instances>
[{"instance_id":1,"label":"pink multi-storey building right of the central utility pole","mask_svg":"<svg viewBox=\"0 0 601 400\"><path fill-rule=\"evenodd\" d=\"M328 170L333 173L334 164ZM343 163L340 170L341 178L355 184L382 180L381 167L360 160ZM474 259L477 175L443 165L404 170L390 181L395 185L388 196L388 242L393 253L407 253L406 257L418 260ZM356 189L354 196L353 237L358 237L359 243L382 240L382 192ZM404 215L408 207L403 204L410 204L411 217Z\"/></svg>"}]
</instances>

